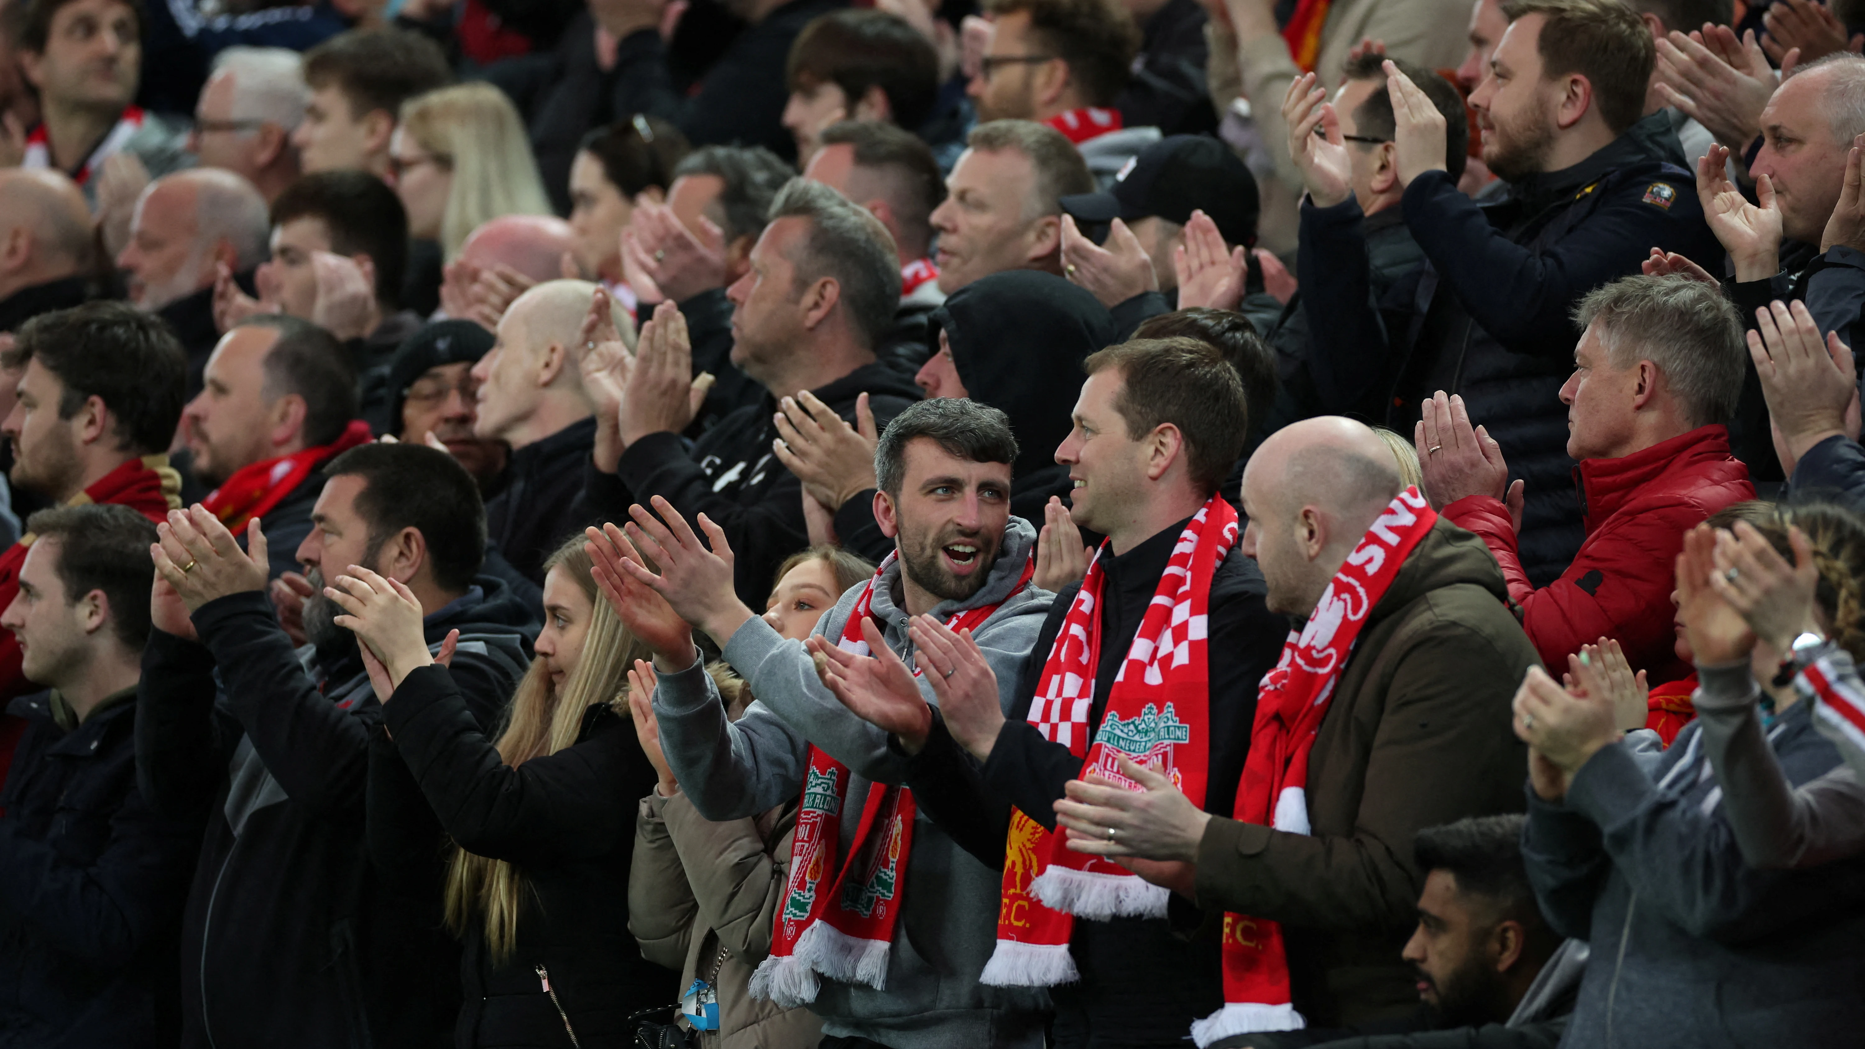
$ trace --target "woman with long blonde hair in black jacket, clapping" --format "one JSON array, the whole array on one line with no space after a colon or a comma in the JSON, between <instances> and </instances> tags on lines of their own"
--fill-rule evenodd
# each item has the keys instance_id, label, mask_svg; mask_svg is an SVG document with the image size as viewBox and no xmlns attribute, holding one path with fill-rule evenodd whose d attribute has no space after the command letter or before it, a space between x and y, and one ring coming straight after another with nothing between
<instances>
[{"instance_id":1,"label":"woman with long blonde hair in black jacket, clapping","mask_svg":"<svg viewBox=\"0 0 1865 1049\"><path fill-rule=\"evenodd\" d=\"M597 597L580 536L545 564L537 659L496 735L427 657L405 586L351 567L328 588L384 706L371 859L410 890L444 879L446 922L466 948L461 1049L629 1045L629 1015L675 993L673 972L629 935L623 890L634 810L617 799L656 782L625 694L647 650Z\"/></svg>"}]
</instances>

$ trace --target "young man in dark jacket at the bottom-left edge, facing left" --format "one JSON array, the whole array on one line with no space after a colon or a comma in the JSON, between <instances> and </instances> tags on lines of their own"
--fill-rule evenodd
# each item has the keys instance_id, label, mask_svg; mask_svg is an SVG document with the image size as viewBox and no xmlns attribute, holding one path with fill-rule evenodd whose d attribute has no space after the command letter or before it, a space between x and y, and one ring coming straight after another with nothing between
<instances>
[{"instance_id":1,"label":"young man in dark jacket at the bottom-left edge, facing left","mask_svg":"<svg viewBox=\"0 0 1865 1049\"><path fill-rule=\"evenodd\" d=\"M0 790L0 1030L32 1045L173 1045L175 911L205 804L157 814L136 790L136 681L149 638L155 524L65 506L0 614L48 691Z\"/></svg>"}]
</instances>

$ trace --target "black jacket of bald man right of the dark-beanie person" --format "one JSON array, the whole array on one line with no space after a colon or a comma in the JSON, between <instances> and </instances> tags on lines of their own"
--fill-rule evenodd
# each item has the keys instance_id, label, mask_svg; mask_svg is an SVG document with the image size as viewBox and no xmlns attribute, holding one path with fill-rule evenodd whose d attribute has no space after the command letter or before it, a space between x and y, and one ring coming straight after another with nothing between
<instances>
[{"instance_id":1,"label":"black jacket of bald man right of the dark-beanie person","mask_svg":"<svg viewBox=\"0 0 1865 1049\"><path fill-rule=\"evenodd\" d=\"M485 504L492 545L537 586L545 584L545 558L591 523L576 510L576 493L593 446L595 416L589 416L515 450L505 489Z\"/></svg>"}]
</instances>

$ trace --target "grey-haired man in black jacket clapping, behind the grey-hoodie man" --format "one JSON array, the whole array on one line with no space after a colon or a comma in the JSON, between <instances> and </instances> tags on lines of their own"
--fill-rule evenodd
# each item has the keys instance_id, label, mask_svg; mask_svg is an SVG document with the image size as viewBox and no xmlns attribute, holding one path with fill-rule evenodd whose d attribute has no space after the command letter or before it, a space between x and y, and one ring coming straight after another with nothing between
<instances>
[{"instance_id":1,"label":"grey-haired man in black jacket clapping, behind the grey-hoodie man","mask_svg":"<svg viewBox=\"0 0 1865 1049\"><path fill-rule=\"evenodd\" d=\"M867 209L794 179L772 202L748 261L725 289L731 364L763 388L761 399L688 446L681 431L694 420L694 353L686 319L662 302L642 327L619 398L597 411L584 502L591 521L627 521L630 504L655 497L688 519L705 513L739 552L739 597L763 607L776 567L809 545L802 483L772 452L780 399L793 409L815 398L850 426L886 426L919 390L875 360L901 267Z\"/></svg>"}]
</instances>

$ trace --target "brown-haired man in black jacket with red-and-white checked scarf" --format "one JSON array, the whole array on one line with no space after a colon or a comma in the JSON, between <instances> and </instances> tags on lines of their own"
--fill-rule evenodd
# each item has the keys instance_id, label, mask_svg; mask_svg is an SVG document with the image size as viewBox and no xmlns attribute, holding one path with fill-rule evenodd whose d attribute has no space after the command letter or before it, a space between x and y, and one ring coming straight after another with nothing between
<instances>
[{"instance_id":1,"label":"brown-haired man in black jacket with red-and-white checked scarf","mask_svg":"<svg viewBox=\"0 0 1865 1049\"><path fill-rule=\"evenodd\" d=\"M1108 541L1050 607L1015 706L994 702L1005 674L936 627L921 642L951 670L936 715L899 689L845 691L918 754L906 782L946 832L1003 868L983 980L1048 987L1057 1045L1181 1045L1223 1000L1216 937L1186 944L1164 890L1065 851L1052 806L1084 769L1130 754L1229 812L1251 685L1287 627L1216 495L1248 429L1236 371L1186 338L1108 347L1085 370L1056 461L1076 483L1074 521Z\"/></svg>"}]
</instances>

